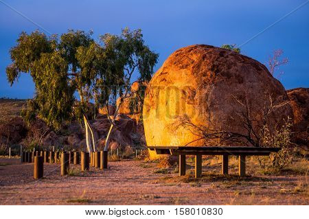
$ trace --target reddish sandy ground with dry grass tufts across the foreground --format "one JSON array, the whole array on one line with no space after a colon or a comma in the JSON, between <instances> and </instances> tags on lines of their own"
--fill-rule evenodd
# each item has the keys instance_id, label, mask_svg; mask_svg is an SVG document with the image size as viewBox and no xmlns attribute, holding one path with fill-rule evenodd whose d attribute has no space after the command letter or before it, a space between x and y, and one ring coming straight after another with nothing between
<instances>
[{"instance_id":1,"label":"reddish sandy ground with dry grass tufts across the foreground","mask_svg":"<svg viewBox=\"0 0 309 219\"><path fill-rule=\"evenodd\" d=\"M179 177L174 170L158 172L157 163L110 162L108 170L60 176L60 165L44 164L44 178L32 178L32 163L0 159L1 205L308 205L300 185L306 176L238 176L207 174L220 165L203 167L203 178L192 170Z\"/></svg>"}]
</instances>

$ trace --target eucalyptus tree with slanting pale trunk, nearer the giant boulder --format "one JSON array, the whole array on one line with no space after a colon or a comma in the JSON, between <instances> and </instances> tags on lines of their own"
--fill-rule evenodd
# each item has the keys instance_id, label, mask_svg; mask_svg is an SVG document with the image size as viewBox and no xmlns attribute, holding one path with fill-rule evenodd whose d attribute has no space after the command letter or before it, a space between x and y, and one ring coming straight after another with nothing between
<instances>
[{"instance_id":1,"label":"eucalyptus tree with slanting pale trunk, nearer the giant boulder","mask_svg":"<svg viewBox=\"0 0 309 219\"><path fill-rule=\"evenodd\" d=\"M104 49L106 68L95 83L93 93L95 93L95 98L100 99L95 102L100 107L106 107L108 112L108 102L120 97L113 117L110 117L109 112L107 113L111 126L108 130L104 150L108 150L111 133L113 128L117 126L115 119L119 107L124 99L130 97L133 78L140 82L149 81L159 54L151 51L145 44L141 30L130 31L125 28L119 36L104 34L100 39ZM87 65L90 63L88 62Z\"/></svg>"}]
</instances>

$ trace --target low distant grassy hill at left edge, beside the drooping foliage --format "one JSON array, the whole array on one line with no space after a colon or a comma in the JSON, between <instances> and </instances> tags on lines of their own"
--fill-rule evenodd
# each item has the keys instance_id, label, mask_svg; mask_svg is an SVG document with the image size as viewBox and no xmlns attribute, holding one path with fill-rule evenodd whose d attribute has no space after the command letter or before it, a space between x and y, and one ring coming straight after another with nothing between
<instances>
[{"instance_id":1,"label":"low distant grassy hill at left edge, beside the drooping foliage","mask_svg":"<svg viewBox=\"0 0 309 219\"><path fill-rule=\"evenodd\" d=\"M12 117L20 117L26 102L27 100L0 98L0 122L6 122Z\"/></svg>"}]
</instances>

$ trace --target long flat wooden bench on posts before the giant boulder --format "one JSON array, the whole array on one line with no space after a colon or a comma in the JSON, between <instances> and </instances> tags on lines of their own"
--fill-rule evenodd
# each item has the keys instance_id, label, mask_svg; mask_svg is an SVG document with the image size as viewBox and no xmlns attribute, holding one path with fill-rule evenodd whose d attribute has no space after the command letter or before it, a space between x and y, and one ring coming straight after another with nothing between
<instances>
[{"instance_id":1,"label":"long flat wooden bench on posts before the giant boulder","mask_svg":"<svg viewBox=\"0 0 309 219\"><path fill-rule=\"evenodd\" d=\"M239 175L246 176L246 156L268 156L281 148L257 147L192 147L192 146L148 146L157 154L179 156L179 176L185 175L185 156L195 155L195 177L202 175L202 155L222 155L222 174L229 174L229 155L239 157Z\"/></svg>"}]
</instances>

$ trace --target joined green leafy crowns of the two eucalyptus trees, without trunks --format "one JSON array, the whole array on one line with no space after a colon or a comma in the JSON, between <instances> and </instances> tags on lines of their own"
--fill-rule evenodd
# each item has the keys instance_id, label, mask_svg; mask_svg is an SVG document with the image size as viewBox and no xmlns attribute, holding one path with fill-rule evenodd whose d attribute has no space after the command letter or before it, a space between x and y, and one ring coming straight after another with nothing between
<instances>
[{"instance_id":1,"label":"joined green leafy crowns of the two eucalyptus trees, without trunks","mask_svg":"<svg viewBox=\"0 0 309 219\"><path fill-rule=\"evenodd\" d=\"M6 75L11 85L21 73L30 73L34 80L35 97L22 113L27 122L38 115L59 128L86 115L90 100L102 107L111 97L121 96L136 70L141 80L150 80L158 54L144 44L141 30L105 34L99 43L91 35L81 30L69 30L60 37L38 31L21 33L10 49L12 64ZM80 102L76 102L76 91Z\"/></svg>"}]
</instances>

